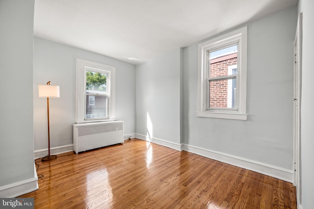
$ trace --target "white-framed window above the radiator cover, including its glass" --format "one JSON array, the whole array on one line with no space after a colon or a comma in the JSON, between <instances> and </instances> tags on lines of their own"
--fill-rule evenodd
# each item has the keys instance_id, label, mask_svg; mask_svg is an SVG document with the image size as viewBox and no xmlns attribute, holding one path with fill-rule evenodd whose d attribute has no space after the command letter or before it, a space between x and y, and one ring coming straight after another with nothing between
<instances>
[{"instance_id":1,"label":"white-framed window above the radiator cover, including its glass","mask_svg":"<svg viewBox=\"0 0 314 209\"><path fill-rule=\"evenodd\" d=\"M114 120L115 67L77 59L76 122Z\"/></svg>"}]
</instances>

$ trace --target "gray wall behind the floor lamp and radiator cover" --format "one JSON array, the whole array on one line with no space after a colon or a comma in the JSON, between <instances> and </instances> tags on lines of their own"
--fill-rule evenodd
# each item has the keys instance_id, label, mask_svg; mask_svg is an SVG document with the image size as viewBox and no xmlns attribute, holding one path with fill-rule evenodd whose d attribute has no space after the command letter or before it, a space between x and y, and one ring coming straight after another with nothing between
<instances>
[{"instance_id":1,"label":"gray wall behind the floor lamp and radiator cover","mask_svg":"<svg viewBox=\"0 0 314 209\"><path fill-rule=\"evenodd\" d=\"M135 65L34 37L35 150L48 147L47 100L38 97L38 85L48 81L60 86L60 98L50 99L51 147L73 144L76 58L116 67L115 117L124 121L124 134L135 133Z\"/></svg>"}]
</instances>

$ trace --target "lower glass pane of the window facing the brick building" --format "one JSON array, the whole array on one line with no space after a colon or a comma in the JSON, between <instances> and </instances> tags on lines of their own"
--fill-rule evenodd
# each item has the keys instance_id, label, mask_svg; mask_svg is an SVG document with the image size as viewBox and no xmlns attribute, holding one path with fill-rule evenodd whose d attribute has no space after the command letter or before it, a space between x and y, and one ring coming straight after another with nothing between
<instances>
[{"instance_id":1,"label":"lower glass pane of the window facing the brick building","mask_svg":"<svg viewBox=\"0 0 314 209\"><path fill-rule=\"evenodd\" d=\"M236 108L236 79L209 81L209 108Z\"/></svg>"}]
</instances>

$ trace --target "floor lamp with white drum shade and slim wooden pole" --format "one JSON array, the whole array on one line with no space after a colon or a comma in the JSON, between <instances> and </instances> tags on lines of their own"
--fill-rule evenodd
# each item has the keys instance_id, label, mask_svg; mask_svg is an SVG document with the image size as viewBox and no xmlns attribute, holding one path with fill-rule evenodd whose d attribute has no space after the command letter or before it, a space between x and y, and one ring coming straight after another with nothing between
<instances>
[{"instance_id":1,"label":"floor lamp with white drum shade and slim wooden pole","mask_svg":"<svg viewBox=\"0 0 314 209\"><path fill-rule=\"evenodd\" d=\"M42 162L52 161L57 158L56 155L50 155L50 128L49 128L49 97L60 97L59 86L38 85L39 97L47 97L47 115L48 115L48 156L41 159Z\"/></svg>"}]
</instances>

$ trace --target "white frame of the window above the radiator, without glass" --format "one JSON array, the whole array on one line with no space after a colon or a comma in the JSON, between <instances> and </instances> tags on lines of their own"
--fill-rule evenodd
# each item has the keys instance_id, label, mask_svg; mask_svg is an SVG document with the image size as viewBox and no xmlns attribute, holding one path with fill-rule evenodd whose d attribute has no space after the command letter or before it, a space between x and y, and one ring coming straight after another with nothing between
<instances>
[{"instance_id":1,"label":"white frame of the window above the radiator, without glass","mask_svg":"<svg viewBox=\"0 0 314 209\"><path fill-rule=\"evenodd\" d=\"M115 80L116 68L101 63L91 62L83 59L76 59L76 123L112 121L115 120ZM107 96L107 117L93 120L86 119L86 70L98 71L107 74L106 96Z\"/></svg>"}]
</instances>

